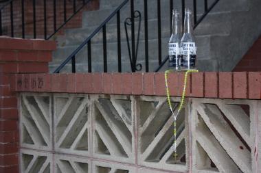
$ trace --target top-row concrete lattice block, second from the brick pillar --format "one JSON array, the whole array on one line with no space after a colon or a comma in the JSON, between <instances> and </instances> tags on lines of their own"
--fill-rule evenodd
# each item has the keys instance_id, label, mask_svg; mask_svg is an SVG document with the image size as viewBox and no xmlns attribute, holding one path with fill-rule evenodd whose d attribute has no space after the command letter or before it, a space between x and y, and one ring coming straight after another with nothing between
<instances>
[{"instance_id":1,"label":"top-row concrete lattice block, second from the brick pillar","mask_svg":"<svg viewBox=\"0 0 261 173\"><path fill-rule=\"evenodd\" d=\"M56 152L89 155L90 101L84 94L54 94Z\"/></svg>"}]
</instances>

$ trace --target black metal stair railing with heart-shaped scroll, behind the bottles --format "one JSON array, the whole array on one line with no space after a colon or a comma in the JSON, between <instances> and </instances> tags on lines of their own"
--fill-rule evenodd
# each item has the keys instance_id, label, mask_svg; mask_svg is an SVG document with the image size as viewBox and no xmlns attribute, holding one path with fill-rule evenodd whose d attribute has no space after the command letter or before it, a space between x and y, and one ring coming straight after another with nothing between
<instances>
[{"instance_id":1,"label":"black metal stair railing with heart-shaped scroll, behind the bottles","mask_svg":"<svg viewBox=\"0 0 261 173\"><path fill-rule=\"evenodd\" d=\"M184 21L184 14L185 14L185 0L177 0L177 1L181 1L181 12L182 12L182 21ZM201 23L201 21L203 21L203 18L205 18L205 16L207 16L207 14L214 8L214 6L216 5L216 3L218 3L219 0L214 1L211 5L209 5L207 3L207 0L204 0L204 12L198 12L197 11L197 4L196 4L196 0L193 0L193 10L194 10L194 29L198 26L199 23ZM103 71L104 72L108 72L108 56L107 56L107 40L106 40L106 24L111 20L111 18L113 18L113 16L115 16L117 14L117 27L115 29L117 29L117 66L118 72L122 72L122 55L121 55L121 51L122 51L122 46L121 46L121 36L120 36L120 11L121 9L124 7L124 5L126 5L126 3L130 2L130 8L131 8L131 14L129 18L126 18L125 20L125 28L126 25L130 25L131 27L131 44L129 44L129 39L128 39L128 31L126 29L126 42L127 42L127 46L128 46L128 54L130 57L130 65L131 65L131 71L135 72L137 70L141 70L142 66L141 64L137 64L137 44L139 44L139 30L140 30L140 26L139 27L135 27L135 18L139 18L139 25L140 25L140 18L141 15L143 16L143 22L144 22L144 64L145 64L145 71L149 72L150 68L149 68L149 49L148 49L148 0L144 0L144 13L141 14L141 12L139 12L138 10L135 10L135 3L133 0L126 0L124 1L122 4L119 5L119 7L114 10L111 15L106 18L105 21L102 22L102 24L95 29L95 31L93 31L93 33L86 39L84 40L84 42L82 42L82 44L80 44L80 46L78 46L78 48L73 51L73 53L71 53L71 55L69 55L69 57L67 57L67 59L65 59L65 61L60 64L60 66L58 66L58 68L56 70L54 70L54 72L60 72L60 70L62 70L67 63L69 63L71 61L71 72L76 72L76 54L81 50L84 49L84 46L87 44L87 58L88 58L88 72L92 71L92 67L91 67L91 39L98 34L98 32L102 29L102 44L103 44ZM173 0L170 0L170 33L171 33L171 23L172 23L172 9L174 8L174 2ZM190 7L191 8L191 7ZM198 18L198 16L201 14L201 16ZM157 0L157 42L158 42L158 47L157 47L157 57L158 57L158 64L159 66L154 70L155 72L158 72L162 66L164 64L166 64L166 62L168 61L168 55L166 57L164 57L164 59L162 59L161 55L162 55L162 48L161 48L161 1ZM135 29L138 28L138 32L135 32ZM137 34L137 38L135 37ZM116 51L116 50L115 50ZM139 59L140 60L140 59Z\"/></svg>"}]
</instances>

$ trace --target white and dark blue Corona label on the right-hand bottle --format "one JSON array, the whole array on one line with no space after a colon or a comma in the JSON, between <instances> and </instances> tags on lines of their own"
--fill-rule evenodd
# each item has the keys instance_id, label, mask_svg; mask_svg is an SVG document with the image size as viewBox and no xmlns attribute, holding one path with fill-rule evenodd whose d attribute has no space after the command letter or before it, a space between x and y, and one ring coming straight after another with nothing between
<instances>
[{"instance_id":1,"label":"white and dark blue Corona label on the right-hand bottle","mask_svg":"<svg viewBox=\"0 0 261 173\"><path fill-rule=\"evenodd\" d=\"M196 66L196 44L194 42L181 43L181 66Z\"/></svg>"}]
</instances>

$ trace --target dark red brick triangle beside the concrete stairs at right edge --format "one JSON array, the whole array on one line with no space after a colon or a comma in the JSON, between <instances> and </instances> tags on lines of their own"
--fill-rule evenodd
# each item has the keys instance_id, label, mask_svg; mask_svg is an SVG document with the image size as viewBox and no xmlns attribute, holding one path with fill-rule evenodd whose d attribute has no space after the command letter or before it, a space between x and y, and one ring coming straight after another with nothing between
<instances>
[{"instance_id":1,"label":"dark red brick triangle beside the concrete stairs at right edge","mask_svg":"<svg viewBox=\"0 0 261 173\"><path fill-rule=\"evenodd\" d=\"M236 65L233 71L252 71L257 72L261 70L261 37L253 43L253 46L247 51L246 55L242 57L240 62Z\"/></svg>"}]
</instances>

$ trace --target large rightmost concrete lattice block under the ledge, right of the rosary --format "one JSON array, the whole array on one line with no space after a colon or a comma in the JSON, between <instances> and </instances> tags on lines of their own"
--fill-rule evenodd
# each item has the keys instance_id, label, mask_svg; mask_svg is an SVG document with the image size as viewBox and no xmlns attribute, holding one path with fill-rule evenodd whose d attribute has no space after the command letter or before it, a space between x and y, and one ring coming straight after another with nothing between
<instances>
[{"instance_id":1,"label":"large rightmost concrete lattice block under the ledge, right of the rosary","mask_svg":"<svg viewBox=\"0 0 261 173\"><path fill-rule=\"evenodd\" d=\"M192 172L253 172L255 103L192 98Z\"/></svg>"}]
</instances>

